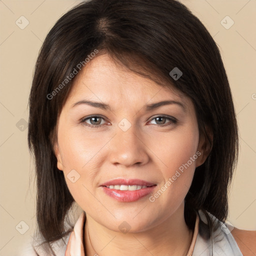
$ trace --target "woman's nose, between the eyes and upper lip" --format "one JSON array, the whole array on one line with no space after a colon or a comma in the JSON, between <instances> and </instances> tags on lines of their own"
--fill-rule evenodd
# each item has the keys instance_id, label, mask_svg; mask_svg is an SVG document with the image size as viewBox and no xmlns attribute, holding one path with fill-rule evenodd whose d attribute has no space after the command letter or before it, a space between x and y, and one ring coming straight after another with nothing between
<instances>
[{"instance_id":1,"label":"woman's nose, between the eyes and upper lip","mask_svg":"<svg viewBox=\"0 0 256 256\"><path fill-rule=\"evenodd\" d=\"M109 159L115 165L143 165L149 160L149 149L143 141L143 134L135 125L131 125L126 131L117 125L116 134L110 140L109 148Z\"/></svg>"}]
</instances>

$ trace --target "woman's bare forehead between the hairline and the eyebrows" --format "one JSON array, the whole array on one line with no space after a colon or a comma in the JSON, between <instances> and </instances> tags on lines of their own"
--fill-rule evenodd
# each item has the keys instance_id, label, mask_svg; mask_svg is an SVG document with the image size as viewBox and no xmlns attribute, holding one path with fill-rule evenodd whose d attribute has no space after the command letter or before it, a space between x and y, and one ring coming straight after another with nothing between
<instances>
[{"instance_id":1,"label":"woman's bare forehead between the hairline and the eyebrows","mask_svg":"<svg viewBox=\"0 0 256 256\"><path fill-rule=\"evenodd\" d=\"M116 103L162 99L182 100L185 105L188 103L188 98L173 85L160 85L135 74L116 64L108 54L91 59L75 77L67 101L71 104L83 97L102 101L115 99Z\"/></svg>"}]
</instances>

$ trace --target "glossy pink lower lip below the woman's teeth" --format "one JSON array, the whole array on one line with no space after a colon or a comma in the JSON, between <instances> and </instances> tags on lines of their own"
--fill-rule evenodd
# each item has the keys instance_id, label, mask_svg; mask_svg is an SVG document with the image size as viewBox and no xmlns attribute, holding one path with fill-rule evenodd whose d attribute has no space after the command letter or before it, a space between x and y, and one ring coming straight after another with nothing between
<instances>
[{"instance_id":1,"label":"glossy pink lower lip below the woman's teeth","mask_svg":"<svg viewBox=\"0 0 256 256\"><path fill-rule=\"evenodd\" d=\"M107 195L116 199L117 201L133 202L151 193L154 190L155 185L137 189L137 190L132 190L132 191L111 189L106 186L102 186L102 188Z\"/></svg>"}]
</instances>

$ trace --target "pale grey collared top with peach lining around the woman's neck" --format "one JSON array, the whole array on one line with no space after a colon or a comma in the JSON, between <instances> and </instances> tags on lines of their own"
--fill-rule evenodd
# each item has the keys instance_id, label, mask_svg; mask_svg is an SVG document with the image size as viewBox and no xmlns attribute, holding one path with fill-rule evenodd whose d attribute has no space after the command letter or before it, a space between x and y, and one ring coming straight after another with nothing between
<instances>
[{"instance_id":1,"label":"pale grey collared top with peach lining around the woman's neck","mask_svg":"<svg viewBox=\"0 0 256 256\"><path fill-rule=\"evenodd\" d=\"M219 222L220 227L211 233L211 239L205 238L200 230L203 229L203 225L205 227L208 223L204 213L199 210L199 216L196 217L195 221L192 242L186 256L243 256L229 230L229 225L222 223L212 214L208 212L207 214L213 221ZM75 222L73 231L63 240L58 240L54 243L53 250L56 256L85 256L83 248L85 218L85 212L83 211ZM37 247L36 251L39 256L47 256L45 252ZM23 253L22 256L37 255L32 250L32 247L25 249Z\"/></svg>"}]
</instances>

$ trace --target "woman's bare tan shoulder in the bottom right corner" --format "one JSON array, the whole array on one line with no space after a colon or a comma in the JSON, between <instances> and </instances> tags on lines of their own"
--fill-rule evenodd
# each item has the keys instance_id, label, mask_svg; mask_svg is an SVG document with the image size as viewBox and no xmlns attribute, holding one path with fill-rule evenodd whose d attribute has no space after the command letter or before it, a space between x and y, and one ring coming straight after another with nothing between
<instances>
[{"instance_id":1,"label":"woman's bare tan shoulder in the bottom right corner","mask_svg":"<svg viewBox=\"0 0 256 256\"><path fill-rule=\"evenodd\" d=\"M256 231L242 230L234 227L231 234L243 255L250 256L256 254Z\"/></svg>"}]
</instances>

